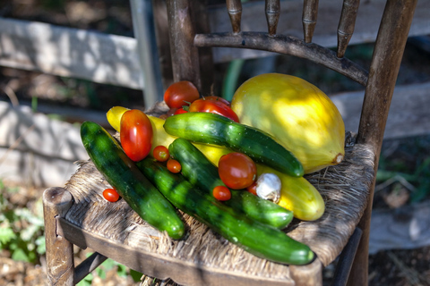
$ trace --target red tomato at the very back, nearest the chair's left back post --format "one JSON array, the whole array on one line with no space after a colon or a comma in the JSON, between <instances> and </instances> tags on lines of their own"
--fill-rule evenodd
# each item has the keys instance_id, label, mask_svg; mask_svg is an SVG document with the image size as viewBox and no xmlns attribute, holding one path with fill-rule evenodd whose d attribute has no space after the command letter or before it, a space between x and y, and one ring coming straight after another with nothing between
<instances>
[{"instance_id":1,"label":"red tomato at the very back, nearest the chair's left back post","mask_svg":"<svg viewBox=\"0 0 430 286\"><path fill-rule=\"evenodd\" d=\"M164 101L170 108L181 108L200 97L199 91L191 81L182 80L171 84L164 93Z\"/></svg>"}]
</instances>

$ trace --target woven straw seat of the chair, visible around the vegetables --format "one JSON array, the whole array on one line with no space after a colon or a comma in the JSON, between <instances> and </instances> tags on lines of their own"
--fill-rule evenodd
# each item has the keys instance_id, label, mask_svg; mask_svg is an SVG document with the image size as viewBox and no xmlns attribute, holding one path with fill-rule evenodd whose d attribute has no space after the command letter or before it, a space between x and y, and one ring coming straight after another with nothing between
<instances>
[{"instance_id":1,"label":"woven straw seat of the chair, visible around the vegetables","mask_svg":"<svg viewBox=\"0 0 430 286\"><path fill-rule=\"evenodd\" d=\"M306 176L323 194L326 212L314 222L294 221L285 231L317 255L305 266L309 282L321 279L322 265L340 255L355 230L374 178L373 162L372 151L357 144L347 147L343 163ZM150 276L193 281L187 285L294 285L294 266L254 257L187 214L189 236L169 239L142 221L124 200L108 203L101 196L107 181L90 161L80 165L64 188L47 191L72 195L72 206L58 220L60 235L73 244L88 246Z\"/></svg>"}]
</instances>

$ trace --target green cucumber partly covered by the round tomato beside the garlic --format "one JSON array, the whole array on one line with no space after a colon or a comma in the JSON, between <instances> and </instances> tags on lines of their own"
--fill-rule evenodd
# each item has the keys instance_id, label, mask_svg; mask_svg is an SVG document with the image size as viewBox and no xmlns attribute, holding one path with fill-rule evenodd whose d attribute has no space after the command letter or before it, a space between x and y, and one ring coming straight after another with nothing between
<instances>
[{"instance_id":1,"label":"green cucumber partly covered by the round tomato beside the garlic","mask_svg":"<svg viewBox=\"0 0 430 286\"><path fill-rule=\"evenodd\" d=\"M213 188L225 186L219 179L218 168L190 141L175 139L168 147L168 152L181 164L184 177L197 188L211 194ZM293 212L244 189L232 189L231 198L223 204L243 212L260 223L279 229L288 226L293 219Z\"/></svg>"}]
</instances>

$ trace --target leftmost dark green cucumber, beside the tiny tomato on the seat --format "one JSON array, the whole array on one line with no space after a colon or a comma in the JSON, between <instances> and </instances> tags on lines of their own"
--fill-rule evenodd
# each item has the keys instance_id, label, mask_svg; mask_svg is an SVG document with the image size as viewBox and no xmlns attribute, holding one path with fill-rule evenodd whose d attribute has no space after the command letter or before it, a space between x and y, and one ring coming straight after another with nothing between
<instances>
[{"instance_id":1,"label":"leftmost dark green cucumber, beside the tiny tomato on the seat","mask_svg":"<svg viewBox=\"0 0 430 286\"><path fill-rule=\"evenodd\" d=\"M185 224L176 209L139 171L107 130L94 122L83 122L81 138L92 162L125 202L144 221L167 231L175 240L185 234Z\"/></svg>"}]
</instances>

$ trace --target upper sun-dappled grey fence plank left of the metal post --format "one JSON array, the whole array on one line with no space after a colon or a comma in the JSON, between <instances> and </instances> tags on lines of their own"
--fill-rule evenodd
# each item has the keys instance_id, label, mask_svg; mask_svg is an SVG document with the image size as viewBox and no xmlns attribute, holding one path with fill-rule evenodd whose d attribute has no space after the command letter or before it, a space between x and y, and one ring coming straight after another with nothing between
<instances>
[{"instance_id":1,"label":"upper sun-dappled grey fence plank left of the metal post","mask_svg":"<svg viewBox=\"0 0 430 286\"><path fill-rule=\"evenodd\" d=\"M0 65L144 89L134 38L0 18Z\"/></svg>"}]
</instances>

